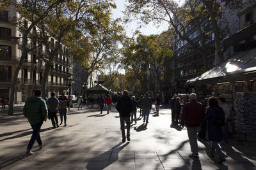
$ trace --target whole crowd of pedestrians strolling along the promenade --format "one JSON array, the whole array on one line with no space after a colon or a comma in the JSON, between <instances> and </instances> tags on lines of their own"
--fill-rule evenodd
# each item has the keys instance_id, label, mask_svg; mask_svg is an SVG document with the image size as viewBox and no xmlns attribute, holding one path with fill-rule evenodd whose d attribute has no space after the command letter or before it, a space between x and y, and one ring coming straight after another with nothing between
<instances>
[{"instance_id":1,"label":"whole crowd of pedestrians strolling along the promenade","mask_svg":"<svg viewBox=\"0 0 256 170\"><path fill-rule=\"evenodd\" d=\"M83 99L77 98L77 110L81 110ZM97 99L99 104L100 114L102 114L104 106L107 108L107 114L111 111L111 105L113 100L108 94L107 97L101 95ZM143 117L143 123L148 124L150 110L152 105L156 106L156 116L159 116L159 108L161 106L161 97L159 94L153 100L148 93L144 96L140 96L138 101L135 96L129 96L129 92L124 90L122 97L120 97L116 103L116 110L120 115L120 128L122 131L122 142L130 141L130 128L131 124L137 119L137 109L140 109L140 116ZM208 107L207 107L208 105ZM180 98L175 94L170 100L170 106L172 110L172 124L180 124L181 127L186 125L188 131L189 144L191 146L192 159L198 159L198 139L204 139L211 141L211 157L214 157L214 151L216 150L219 156L219 162L224 162L225 157L221 152L218 142L225 139L228 143L227 135L227 118L229 116L228 106L225 104L225 99L221 97L210 97L208 104L206 104L205 97L201 96L197 100L196 94L192 93L189 96L189 102L186 104L180 103ZM182 113L180 110L183 106ZM51 119L52 128L59 127L63 123L67 125L67 108L70 108L70 102L64 93L61 97L55 97L55 93L51 92L49 99L42 99L40 90L35 90L35 96L29 97L24 106L24 116L28 118L29 123L33 129L33 134L29 141L26 155L33 155L31 148L35 141L37 141L39 148L43 148L45 143L40 139L40 128L47 117ZM60 124L58 124L57 113L60 113ZM125 135L126 124L126 135Z\"/></svg>"}]
</instances>

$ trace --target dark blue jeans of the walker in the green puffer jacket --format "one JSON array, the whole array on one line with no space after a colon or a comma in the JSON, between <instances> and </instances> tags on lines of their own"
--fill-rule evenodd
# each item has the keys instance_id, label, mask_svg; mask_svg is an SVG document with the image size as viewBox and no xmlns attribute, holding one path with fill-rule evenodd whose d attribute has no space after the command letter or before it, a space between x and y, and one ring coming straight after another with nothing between
<instances>
[{"instance_id":1,"label":"dark blue jeans of the walker in the green puffer jacket","mask_svg":"<svg viewBox=\"0 0 256 170\"><path fill-rule=\"evenodd\" d=\"M30 141L28 143L28 148L27 150L30 151L31 148L33 147L34 143L35 143L35 140L37 141L38 145L42 145L42 141L41 141L41 138L40 138L40 129L42 127L42 124L43 124L43 120L41 122L38 122L36 124L33 124L31 125L32 129L33 129L33 133L32 133L32 136L30 138Z\"/></svg>"}]
</instances>

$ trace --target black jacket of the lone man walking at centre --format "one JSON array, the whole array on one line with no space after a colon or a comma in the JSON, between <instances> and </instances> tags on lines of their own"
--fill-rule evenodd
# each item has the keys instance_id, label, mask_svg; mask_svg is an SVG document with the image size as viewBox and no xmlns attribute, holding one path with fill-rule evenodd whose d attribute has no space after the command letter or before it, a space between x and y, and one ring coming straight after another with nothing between
<instances>
[{"instance_id":1,"label":"black jacket of the lone man walking at centre","mask_svg":"<svg viewBox=\"0 0 256 170\"><path fill-rule=\"evenodd\" d=\"M131 117L132 101L129 96L122 96L116 103L116 110L119 112L120 117Z\"/></svg>"}]
</instances>

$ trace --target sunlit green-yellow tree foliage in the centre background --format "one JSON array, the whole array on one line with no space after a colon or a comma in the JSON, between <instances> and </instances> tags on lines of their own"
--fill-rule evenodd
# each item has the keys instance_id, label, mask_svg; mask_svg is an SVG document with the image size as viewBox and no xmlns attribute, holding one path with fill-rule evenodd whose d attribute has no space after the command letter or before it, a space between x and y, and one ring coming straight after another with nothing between
<instances>
[{"instance_id":1,"label":"sunlit green-yellow tree foliage in the centre background","mask_svg":"<svg viewBox=\"0 0 256 170\"><path fill-rule=\"evenodd\" d=\"M170 35L172 35L170 32L164 32L159 36L139 34L136 40L126 39L125 41L122 64L124 64L126 72L132 73L140 81L142 92L147 91L151 71L156 73L161 86L164 75L163 68L171 64L173 55Z\"/></svg>"}]
</instances>

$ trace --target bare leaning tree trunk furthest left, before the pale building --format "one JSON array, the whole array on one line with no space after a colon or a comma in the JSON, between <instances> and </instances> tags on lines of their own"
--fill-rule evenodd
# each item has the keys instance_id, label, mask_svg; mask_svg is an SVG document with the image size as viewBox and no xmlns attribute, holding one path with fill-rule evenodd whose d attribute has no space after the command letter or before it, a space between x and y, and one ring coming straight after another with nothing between
<instances>
[{"instance_id":1,"label":"bare leaning tree trunk furthest left, before the pale building","mask_svg":"<svg viewBox=\"0 0 256 170\"><path fill-rule=\"evenodd\" d=\"M19 64L15 69L15 73L13 75L8 115L13 115L13 104L14 104L14 97L15 97L15 92L16 92L16 87L17 87L18 75L19 75L20 68L24 62L25 56L28 53L27 45L28 45L28 32L25 32L23 34L23 38L22 38L22 47L21 47L22 55L20 57Z\"/></svg>"}]
</instances>

